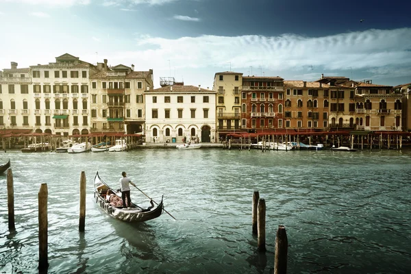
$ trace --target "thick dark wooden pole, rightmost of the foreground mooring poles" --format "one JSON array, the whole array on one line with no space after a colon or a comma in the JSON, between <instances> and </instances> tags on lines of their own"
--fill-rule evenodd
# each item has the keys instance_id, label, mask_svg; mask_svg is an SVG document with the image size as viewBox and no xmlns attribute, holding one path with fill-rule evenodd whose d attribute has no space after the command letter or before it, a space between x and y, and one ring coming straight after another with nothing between
<instances>
[{"instance_id":1,"label":"thick dark wooden pole, rightmost of the foreground mooring poles","mask_svg":"<svg viewBox=\"0 0 411 274\"><path fill-rule=\"evenodd\" d=\"M277 237L275 238L274 274L287 273L287 253L288 240L286 227L284 227L284 225L279 225L277 230Z\"/></svg>"}]
</instances>

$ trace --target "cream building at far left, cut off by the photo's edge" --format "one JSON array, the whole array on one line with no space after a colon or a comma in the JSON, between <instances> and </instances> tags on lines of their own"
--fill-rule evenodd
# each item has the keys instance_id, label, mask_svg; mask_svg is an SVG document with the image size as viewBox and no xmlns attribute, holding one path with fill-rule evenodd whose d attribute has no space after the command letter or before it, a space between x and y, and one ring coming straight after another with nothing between
<instances>
[{"instance_id":1,"label":"cream building at far left, cut off by the photo's edge","mask_svg":"<svg viewBox=\"0 0 411 274\"><path fill-rule=\"evenodd\" d=\"M11 62L10 69L0 75L0 126L5 129L34 127L34 100L30 69L18 69Z\"/></svg>"}]
</instances>

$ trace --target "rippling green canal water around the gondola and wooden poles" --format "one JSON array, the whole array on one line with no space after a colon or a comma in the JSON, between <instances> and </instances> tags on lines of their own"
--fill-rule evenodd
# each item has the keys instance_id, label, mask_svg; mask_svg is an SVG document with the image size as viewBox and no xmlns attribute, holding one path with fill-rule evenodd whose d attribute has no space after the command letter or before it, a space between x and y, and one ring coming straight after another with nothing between
<instances>
[{"instance_id":1,"label":"rippling green canal water around the gondola and wooden poles","mask_svg":"<svg viewBox=\"0 0 411 274\"><path fill-rule=\"evenodd\" d=\"M0 175L0 273L38 273L38 190L49 190L45 273L273 273L285 225L288 273L409 273L411 151L142 149L104 153L1 152L12 162L16 232ZM87 177L79 233L79 178ZM93 199L96 171L121 171L171 216L131 225ZM253 191L266 202L266 252L251 234ZM132 190L141 206L149 200Z\"/></svg>"}]
</instances>

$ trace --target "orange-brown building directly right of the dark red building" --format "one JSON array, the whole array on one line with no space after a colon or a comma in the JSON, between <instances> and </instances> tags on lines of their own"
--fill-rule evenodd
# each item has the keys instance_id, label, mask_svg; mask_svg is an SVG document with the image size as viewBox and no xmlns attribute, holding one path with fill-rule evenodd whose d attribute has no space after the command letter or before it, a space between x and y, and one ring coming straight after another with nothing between
<instances>
[{"instance_id":1,"label":"orange-brown building directly right of the dark red building","mask_svg":"<svg viewBox=\"0 0 411 274\"><path fill-rule=\"evenodd\" d=\"M297 130L328 128L328 84L284 81L284 90L284 127Z\"/></svg>"}]
</instances>

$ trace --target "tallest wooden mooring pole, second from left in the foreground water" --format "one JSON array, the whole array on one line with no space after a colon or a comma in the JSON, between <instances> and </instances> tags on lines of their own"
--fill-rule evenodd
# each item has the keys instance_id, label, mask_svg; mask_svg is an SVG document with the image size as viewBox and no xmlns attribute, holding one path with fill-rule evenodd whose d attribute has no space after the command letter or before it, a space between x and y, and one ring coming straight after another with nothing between
<instances>
[{"instance_id":1,"label":"tallest wooden mooring pole, second from left in the foreground water","mask_svg":"<svg viewBox=\"0 0 411 274\"><path fill-rule=\"evenodd\" d=\"M47 258L47 184L41 184L38 192L38 269L49 267Z\"/></svg>"}]
</instances>

